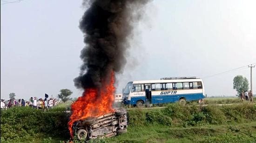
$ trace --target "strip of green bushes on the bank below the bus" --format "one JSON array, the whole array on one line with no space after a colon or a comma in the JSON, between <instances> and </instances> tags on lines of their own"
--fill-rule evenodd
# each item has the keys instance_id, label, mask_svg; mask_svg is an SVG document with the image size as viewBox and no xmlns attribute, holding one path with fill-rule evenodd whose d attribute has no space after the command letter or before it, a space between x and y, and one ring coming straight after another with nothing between
<instances>
[{"instance_id":1,"label":"strip of green bushes on the bank below the bus","mask_svg":"<svg viewBox=\"0 0 256 143\"><path fill-rule=\"evenodd\" d=\"M131 126L162 124L185 127L187 125L255 121L256 105L182 106L170 104L160 110L133 109L128 113Z\"/></svg>"}]
</instances>

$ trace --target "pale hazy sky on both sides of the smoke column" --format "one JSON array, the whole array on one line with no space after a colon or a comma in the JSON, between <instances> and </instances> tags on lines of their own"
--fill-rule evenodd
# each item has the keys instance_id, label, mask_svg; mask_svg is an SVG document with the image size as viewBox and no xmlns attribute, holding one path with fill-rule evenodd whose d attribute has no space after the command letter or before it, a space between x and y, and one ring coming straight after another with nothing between
<instances>
[{"instance_id":1,"label":"pale hazy sky on both sides of the smoke column","mask_svg":"<svg viewBox=\"0 0 256 143\"><path fill-rule=\"evenodd\" d=\"M73 80L84 47L78 27L86 10L82 0L5 1L12 0L0 5L1 99L9 93L16 99L56 97L63 88L73 91L73 98L81 96ZM233 78L249 80L248 64L256 63L255 5L255 0L151 0L134 24L116 93L128 81L196 76L208 96L234 96ZM256 68L252 72L256 91Z\"/></svg>"}]
</instances>

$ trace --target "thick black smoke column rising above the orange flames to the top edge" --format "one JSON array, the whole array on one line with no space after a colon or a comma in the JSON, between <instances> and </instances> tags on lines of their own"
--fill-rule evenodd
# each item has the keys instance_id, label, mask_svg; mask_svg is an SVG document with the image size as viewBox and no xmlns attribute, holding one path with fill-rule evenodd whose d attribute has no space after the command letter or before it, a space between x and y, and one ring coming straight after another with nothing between
<instances>
[{"instance_id":1,"label":"thick black smoke column rising above the orange flames to the top edge","mask_svg":"<svg viewBox=\"0 0 256 143\"><path fill-rule=\"evenodd\" d=\"M148 0L85 0L88 10L80 21L84 33L80 76L74 79L78 88L101 87L111 72L121 72L126 63L133 25L141 18Z\"/></svg>"}]
</instances>

